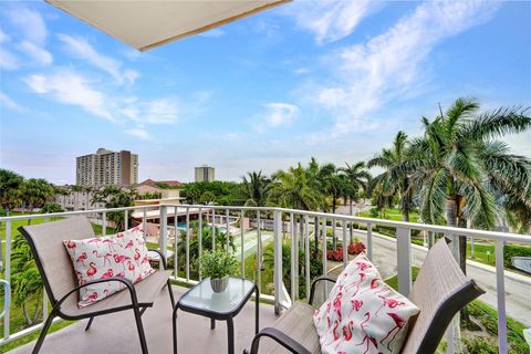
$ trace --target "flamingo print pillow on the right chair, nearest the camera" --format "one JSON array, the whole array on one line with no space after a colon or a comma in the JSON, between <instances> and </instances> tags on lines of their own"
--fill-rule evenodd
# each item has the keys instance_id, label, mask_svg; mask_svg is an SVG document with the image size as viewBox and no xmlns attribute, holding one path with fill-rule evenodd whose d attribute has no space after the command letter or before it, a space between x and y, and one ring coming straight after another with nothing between
<instances>
[{"instance_id":1,"label":"flamingo print pillow on the right chair, nearest the camera","mask_svg":"<svg viewBox=\"0 0 531 354\"><path fill-rule=\"evenodd\" d=\"M323 354L399 353L418 312L362 253L340 274L313 322Z\"/></svg>"}]
</instances>

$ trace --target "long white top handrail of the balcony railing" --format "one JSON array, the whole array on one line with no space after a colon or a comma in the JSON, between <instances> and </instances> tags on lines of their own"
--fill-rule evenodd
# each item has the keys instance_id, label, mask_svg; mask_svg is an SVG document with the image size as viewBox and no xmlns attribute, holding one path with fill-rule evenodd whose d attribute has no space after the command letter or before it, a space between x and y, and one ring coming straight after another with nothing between
<instances>
[{"instance_id":1,"label":"long white top handrail of the balcony railing","mask_svg":"<svg viewBox=\"0 0 531 354\"><path fill-rule=\"evenodd\" d=\"M480 229L464 229L448 226L438 226L431 223L418 223L418 222L406 222L406 221L395 221L387 219L376 219L376 218L365 218L356 217L342 214L331 214L322 211L310 211L310 210L300 210L300 209L289 209L289 208L279 208L279 207L244 207L244 206L215 206L215 205L184 205L184 204L162 204L155 206L133 206L133 207L122 207L122 208L103 208L103 209L92 209L92 210L76 210L76 211L63 211L63 212L51 212L51 214L31 214L31 215L19 215L11 217L0 217L0 222L2 221L14 221L14 220L28 220L28 219L38 219L45 217L66 217L66 216L77 216L86 214L101 214L101 212L116 212L125 210L145 210L145 209L159 209L162 207L170 208L202 208L202 209L215 209L215 210L237 210L237 211L280 211L285 214L298 214L302 216L316 217L316 218L335 218L342 221L353 221L361 223L378 225L386 227L395 228L406 228L413 230L424 230L430 232L439 232L446 235L461 235L476 238L491 238L493 240L511 241L511 242L521 242L531 244L531 236L529 235L518 235L512 232L502 232L502 231L490 231L490 230L480 230Z\"/></svg>"}]
</instances>

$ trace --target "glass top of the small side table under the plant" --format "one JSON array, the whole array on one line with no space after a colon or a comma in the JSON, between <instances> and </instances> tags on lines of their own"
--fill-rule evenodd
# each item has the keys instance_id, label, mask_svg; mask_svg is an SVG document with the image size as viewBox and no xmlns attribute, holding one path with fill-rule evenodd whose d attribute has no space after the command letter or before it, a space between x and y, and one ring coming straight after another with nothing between
<instances>
[{"instance_id":1,"label":"glass top of the small side table under the plant","mask_svg":"<svg viewBox=\"0 0 531 354\"><path fill-rule=\"evenodd\" d=\"M250 280L229 278L227 290L216 293L210 287L210 278L206 278L184 294L179 304L208 312L231 313L249 298L253 290L254 283Z\"/></svg>"}]
</instances>

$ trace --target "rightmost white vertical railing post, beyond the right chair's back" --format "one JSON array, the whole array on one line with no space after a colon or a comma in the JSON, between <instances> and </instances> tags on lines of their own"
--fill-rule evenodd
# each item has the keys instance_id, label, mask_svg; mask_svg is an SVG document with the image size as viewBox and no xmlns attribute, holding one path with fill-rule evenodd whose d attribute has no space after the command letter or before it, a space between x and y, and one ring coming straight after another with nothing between
<instances>
[{"instance_id":1,"label":"rightmost white vertical railing post, beyond the right chair's back","mask_svg":"<svg viewBox=\"0 0 531 354\"><path fill-rule=\"evenodd\" d=\"M506 283L503 279L503 240L496 240L496 292L498 301L498 350L507 353Z\"/></svg>"}]
</instances>

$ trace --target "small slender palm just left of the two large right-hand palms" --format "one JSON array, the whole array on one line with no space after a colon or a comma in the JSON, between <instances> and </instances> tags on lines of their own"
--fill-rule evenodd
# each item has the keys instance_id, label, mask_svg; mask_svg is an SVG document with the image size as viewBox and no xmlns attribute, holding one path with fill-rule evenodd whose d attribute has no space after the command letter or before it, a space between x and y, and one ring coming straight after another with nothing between
<instances>
[{"instance_id":1,"label":"small slender palm just left of the two large right-hand palms","mask_svg":"<svg viewBox=\"0 0 531 354\"><path fill-rule=\"evenodd\" d=\"M365 163L358 162L354 165L345 163L346 167L340 167L340 173L346 179L343 187L343 198L348 199L348 212L354 215L353 202L360 198L361 191L366 191L371 181L371 174L365 169ZM354 242L353 223L350 225L350 240Z\"/></svg>"}]
</instances>

